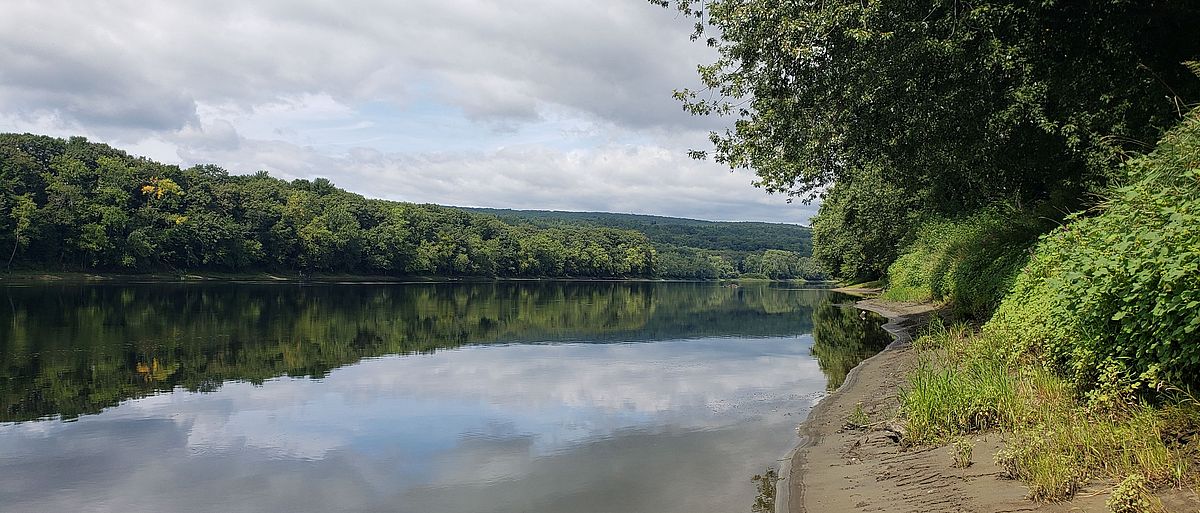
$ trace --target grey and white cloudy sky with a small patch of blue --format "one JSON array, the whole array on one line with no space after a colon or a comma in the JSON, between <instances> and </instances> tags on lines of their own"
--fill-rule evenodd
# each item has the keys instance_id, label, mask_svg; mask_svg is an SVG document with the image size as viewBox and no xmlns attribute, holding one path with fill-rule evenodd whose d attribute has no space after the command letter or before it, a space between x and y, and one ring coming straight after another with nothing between
<instances>
[{"instance_id":1,"label":"grey and white cloudy sky with a small patch of blue","mask_svg":"<svg viewBox=\"0 0 1200 513\"><path fill-rule=\"evenodd\" d=\"M808 223L696 162L710 50L646 0L5 0L0 132L367 197Z\"/></svg>"}]
</instances>

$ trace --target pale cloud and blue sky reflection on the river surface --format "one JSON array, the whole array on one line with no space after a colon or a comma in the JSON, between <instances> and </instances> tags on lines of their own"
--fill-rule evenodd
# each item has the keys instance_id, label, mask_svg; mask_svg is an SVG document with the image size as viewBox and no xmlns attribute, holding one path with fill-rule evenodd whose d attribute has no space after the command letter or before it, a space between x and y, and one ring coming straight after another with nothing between
<instances>
[{"instance_id":1,"label":"pale cloud and blue sky reflection on the river surface","mask_svg":"<svg viewBox=\"0 0 1200 513\"><path fill-rule=\"evenodd\" d=\"M0 495L12 512L743 511L824 391L811 343L474 346L161 394L0 426Z\"/></svg>"}]
</instances>

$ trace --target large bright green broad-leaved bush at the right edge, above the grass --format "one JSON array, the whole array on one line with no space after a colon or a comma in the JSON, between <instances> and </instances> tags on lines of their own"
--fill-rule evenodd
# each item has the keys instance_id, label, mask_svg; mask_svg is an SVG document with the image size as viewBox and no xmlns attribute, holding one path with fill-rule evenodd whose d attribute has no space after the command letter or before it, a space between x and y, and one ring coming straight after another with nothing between
<instances>
[{"instance_id":1,"label":"large bright green broad-leaved bush at the right edge, above the grass","mask_svg":"<svg viewBox=\"0 0 1200 513\"><path fill-rule=\"evenodd\" d=\"M1100 402L1200 385L1200 115L1126 169L1099 213L1043 237L985 326Z\"/></svg>"}]
</instances>

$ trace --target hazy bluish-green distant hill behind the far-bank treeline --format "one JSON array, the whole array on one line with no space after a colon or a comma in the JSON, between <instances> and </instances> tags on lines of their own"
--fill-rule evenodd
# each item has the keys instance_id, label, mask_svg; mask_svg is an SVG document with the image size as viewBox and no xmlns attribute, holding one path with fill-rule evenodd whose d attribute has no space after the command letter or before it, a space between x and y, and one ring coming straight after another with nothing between
<instances>
[{"instance_id":1,"label":"hazy bluish-green distant hill behind the far-bank treeline","mask_svg":"<svg viewBox=\"0 0 1200 513\"><path fill-rule=\"evenodd\" d=\"M746 253L782 249L804 256L812 254L812 229L799 224L698 221L680 217L610 212L508 209L463 210L492 215L508 223L527 223L541 227L575 224L636 230L646 234L650 242L659 246Z\"/></svg>"}]
</instances>

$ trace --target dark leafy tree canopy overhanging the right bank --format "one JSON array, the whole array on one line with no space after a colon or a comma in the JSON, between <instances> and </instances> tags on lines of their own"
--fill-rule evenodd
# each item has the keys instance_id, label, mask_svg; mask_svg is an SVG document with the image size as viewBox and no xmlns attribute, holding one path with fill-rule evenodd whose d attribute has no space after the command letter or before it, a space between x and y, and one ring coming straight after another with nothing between
<instances>
[{"instance_id":1,"label":"dark leafy tree canopy overhanging the right bank","mask_svg":"<svg viewBox=\"0 0 1200 513\"><path fill-rule=\"evenodd\" d=\"M871 167L940 212L1074 195L1200 97L1190 0L650 2L718 52L676 93L734 119L715 159L800 198Z\"/></svg>"}]
</instances>

